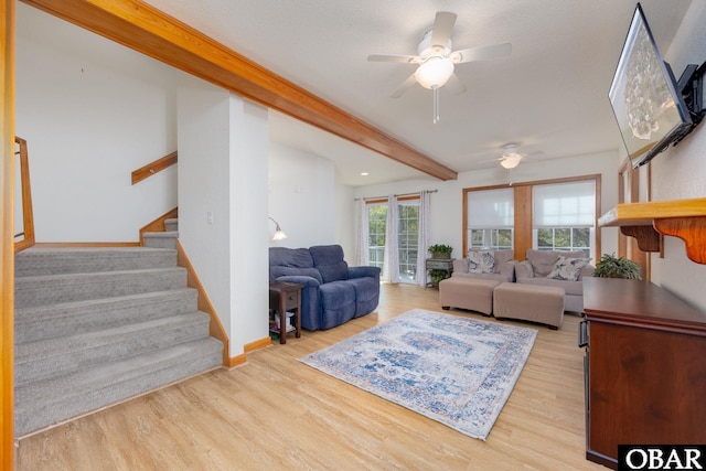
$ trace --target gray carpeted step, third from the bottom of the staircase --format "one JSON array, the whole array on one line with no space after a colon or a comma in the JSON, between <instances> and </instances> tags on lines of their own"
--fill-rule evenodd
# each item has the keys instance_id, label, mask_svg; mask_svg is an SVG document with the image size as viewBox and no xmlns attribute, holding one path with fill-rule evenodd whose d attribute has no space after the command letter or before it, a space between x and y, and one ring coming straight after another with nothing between
<instances>
[{"instance_id":1,"label":"gray carpeted step, third from the bottom of the staircase","mask_svg":"<svg viewBox=\"0 0 706 471\"><path fill-rule=\"evenodd\" d=\"M196 303L196 290L180 288L17 308L14 341L20 344L186 313L194 311Z\"/></svg>"}]
</instances>

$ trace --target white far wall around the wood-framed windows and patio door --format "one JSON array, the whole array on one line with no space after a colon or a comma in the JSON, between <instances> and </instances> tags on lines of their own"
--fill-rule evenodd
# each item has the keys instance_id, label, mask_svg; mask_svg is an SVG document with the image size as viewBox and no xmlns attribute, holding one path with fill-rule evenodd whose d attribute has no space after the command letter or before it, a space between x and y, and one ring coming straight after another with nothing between
<instances>
[{"instance_id":1,"label":"white far wall around the wood-framed windows and patio door","mask_svg":"<svg viewBox=\"0 0 706 471\"><path fill-rule=\"evenodd\" d=\"M362 186L353 191L355 197L386 196L405 194L421 190L438 190L431 195L431 244L448 244L453 247L453 256L461 257L463 247L463 189L528 182L564 176L601 174L602 210L608 211L618 201L618 170L616 168L617 151L590 156L580 156L548 161L531 161L521 163L512 174L506 170L490 169L463 172L458 180L432 181L417 180L389 183L384 185ZM511 178L512 176L512 178ZM601 229L601 251L617 251L618 233L614 228Z\"/></svg>"}]
</instances>

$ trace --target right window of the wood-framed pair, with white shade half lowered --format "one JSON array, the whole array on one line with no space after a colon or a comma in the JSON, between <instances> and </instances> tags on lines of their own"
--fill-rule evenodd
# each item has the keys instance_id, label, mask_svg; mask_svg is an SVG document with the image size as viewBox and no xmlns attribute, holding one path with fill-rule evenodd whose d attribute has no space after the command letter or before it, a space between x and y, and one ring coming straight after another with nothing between
<instances>
[{"instance_id":1,"label":"right window of the wood-framed pair, with white shade half lowered","mask_svg":"<svg viewBox=\"0 0 706 471\"><path fill-rule=\"evenodd\" d=\"M584 250L593 258L596 184L592 180L533 188L533 239L539 250Z\"/></svg>"}]
</instances>

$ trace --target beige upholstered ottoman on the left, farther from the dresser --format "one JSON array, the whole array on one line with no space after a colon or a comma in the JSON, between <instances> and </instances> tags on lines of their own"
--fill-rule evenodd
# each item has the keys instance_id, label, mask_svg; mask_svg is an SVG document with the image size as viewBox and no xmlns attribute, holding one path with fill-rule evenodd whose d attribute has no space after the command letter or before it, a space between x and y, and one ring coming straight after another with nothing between
<instances>
[{"instance_id":1,"label":"beige upholstered ottoman on the left, farther from the dresser","mask_svg":"<svg viewBox=\"0 0 706 471\"><path fill-rule=\"evenodd\" d=\"M490 315L493 312L493 289L501 281L451 277L439 283L441 309L461 308Z\"/></svg>"}]
</instances>

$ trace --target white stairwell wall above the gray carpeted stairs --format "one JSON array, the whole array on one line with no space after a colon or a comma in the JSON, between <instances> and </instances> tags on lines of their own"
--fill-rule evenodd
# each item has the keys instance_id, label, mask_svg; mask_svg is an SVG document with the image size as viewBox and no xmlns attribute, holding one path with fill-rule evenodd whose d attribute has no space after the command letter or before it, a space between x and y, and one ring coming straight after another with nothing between
<instances>
[{"instance_id":1,"label":"white stairwell wall above the gray carpeted stairs","mask_svg":"<svg viewBox=\"0 0 706 471\"><path fill-rule=\"evenodd\" d=\"M137 242L176 206L175 167L136 185L130 174L176 150L178 73L22 3L17 23L36 240Z\"/></svg>"}]
</instances>

